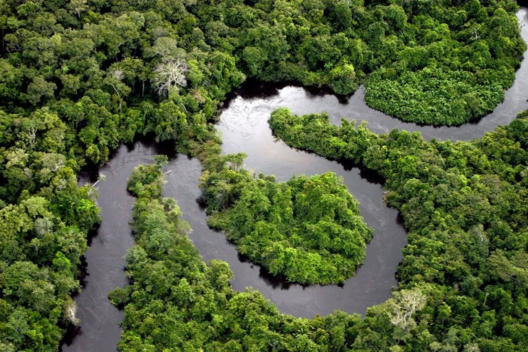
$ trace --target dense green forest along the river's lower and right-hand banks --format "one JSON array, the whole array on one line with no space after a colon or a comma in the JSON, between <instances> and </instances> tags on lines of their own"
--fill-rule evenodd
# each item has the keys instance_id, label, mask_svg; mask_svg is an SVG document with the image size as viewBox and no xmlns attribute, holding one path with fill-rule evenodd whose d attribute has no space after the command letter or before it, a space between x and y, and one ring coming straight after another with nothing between
<instances>
[{"instance_id":1,"label":"dense green forest along the river's lower and right-hand banks","mask_svg":"<svg viewBox=\"0 0 528 352\"><path fill-rule=\"evenodd\" d=\"M234 292L229 268L200 260L179 209L161 197L158 157L129 179L137 197L137 245L126 257L132 285L110 296L125 305L120 351L528 348L528 112L479 140L456 143L397 130L377 135L347 120L334 126L325 114L299 117L287 109L275 111L270 126L292 146L351 159L386 179L386 201L401 210L410 231L393 298L364 319L335 312L307 320L280 314L258 292ZM232 175L243 173L241 157L203 159L207 179L214 170L223 175L223 183L203 189L222 184L225 198L244 199L235 189L248 180ZM252 187L274 181L245 178ZM234 202L228 216L251 210Z\"/></svg>"}]
</instances>

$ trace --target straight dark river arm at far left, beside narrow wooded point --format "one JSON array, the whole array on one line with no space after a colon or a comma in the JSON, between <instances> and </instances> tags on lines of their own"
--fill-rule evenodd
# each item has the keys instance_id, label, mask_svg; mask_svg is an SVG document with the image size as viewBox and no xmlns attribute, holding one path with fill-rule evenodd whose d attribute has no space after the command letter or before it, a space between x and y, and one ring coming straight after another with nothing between
<instances>
[{"instance_id":1,"label":"straight dark river arm at far left, beside narrow wooded point","mask_svg":"<svg viewBox=\"0 0 528 352\"><path fill-rule=\"evenodd\" d=\"M155 153L155 148L140 143L133 149L121 146L110 162L99 170L106 177L96 186L102 223L85 254L85 288L75 297L77 318L81 322L75 333L69 333L65 338L63 351L115 351L120 340L118 324L123 320L123 313L111 305L108 292L126 285L123 257L134 243L129 225L134 198L126 190L126 179L138 164L153 162ZM87 182L94 184L94 180L85 175L81 183Z\"/></svg>"}]
</instances>

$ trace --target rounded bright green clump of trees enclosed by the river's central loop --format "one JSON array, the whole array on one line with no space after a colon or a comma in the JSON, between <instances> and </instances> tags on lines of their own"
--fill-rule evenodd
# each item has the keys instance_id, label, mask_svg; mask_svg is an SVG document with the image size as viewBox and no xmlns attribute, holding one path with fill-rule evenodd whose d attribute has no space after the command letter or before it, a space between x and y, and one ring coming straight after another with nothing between
<instances>
[{"instance_id":1,"label":"rounded bright green clump of trees enclosed by the river's central loop","mask_svg":"<svg viewBox=\"0 0 528 352\"><path fill-rule=\"evenodd\" d=\"M224 168L202 177L202 199L217 203L208 197L233 178L239 179L239 197L213 214L209 225L225 230L239 252L290 282L327 285L353 276L372 230L335 174L277 184L273 177L254 179L245 170Z\"/></svg>"}]
</instances>

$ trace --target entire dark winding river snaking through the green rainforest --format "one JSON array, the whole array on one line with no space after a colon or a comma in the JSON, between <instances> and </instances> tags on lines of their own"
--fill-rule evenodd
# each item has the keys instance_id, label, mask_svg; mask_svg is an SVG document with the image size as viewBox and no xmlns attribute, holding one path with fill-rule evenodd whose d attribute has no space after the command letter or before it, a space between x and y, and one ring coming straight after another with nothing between
<instances>
[{"instance_id":1,"label":"entire dark winding river snaking through the green rainforest","mask_svg":"<svg viewBox=\"0 0 528 352\"><path fill-rule=\"evenodd\" d=\"M528 41L528 14L518 12L522 37ZM335 309L364 314L367 307L384 302L391 287L397 284L395 270L401 261L401 248L406 244L406 231L396 210L387 208L382 201L382 184L374 175L364 173L317 155L296 151L283 142L276 142L267 126L267 118L278 107L289 107L294 113L327 111L331 121L341 118L368 121L371 130L382 133L391 129L419 131L426 139L470 140L480 137L496 126L511 122L518 111L528 109L528 63L523 61L516 72L514 85L506 92L505 101L493 113L478 122L459 127L431 127L401 122L364 103L360 89L347 101L331 94L314 93L300 87L248 84L226 104L217 129L222 133L223 153L244 152L245 168L256 173L276 175L284 181L294 174L314 175L328 170L341 175L349 191L360 201L364 219L375 229L373 239L366 248L366 260L354 278L342 286L302 286L278 281L258 265L241 258L233 245L221 232L210 230L206 215L196 199L201 166L196 159L172 155L167 170L164 195L177 199L183 217L191 227L190 239L203 259L227 261L234 272L231 284L236 290L253 287L264 294L283 313L311 318L316 314L330 314ZM63 351L115 351L120 339L122 311L107 299L110 289L126 285L122 271L123 257L133 244L129 227L133 197L126 192L126 178L137 164L153 162L157 153L168 153L153 144L136 143L121 146L110 162L100 169L107 178L98 184L98 204L102 224L91 240L85 257L87 276L83 292L76 296L78 318L81 323L63 343ZM93 181L88 176L81 182Z\"/></svg>"}]
</instances>

